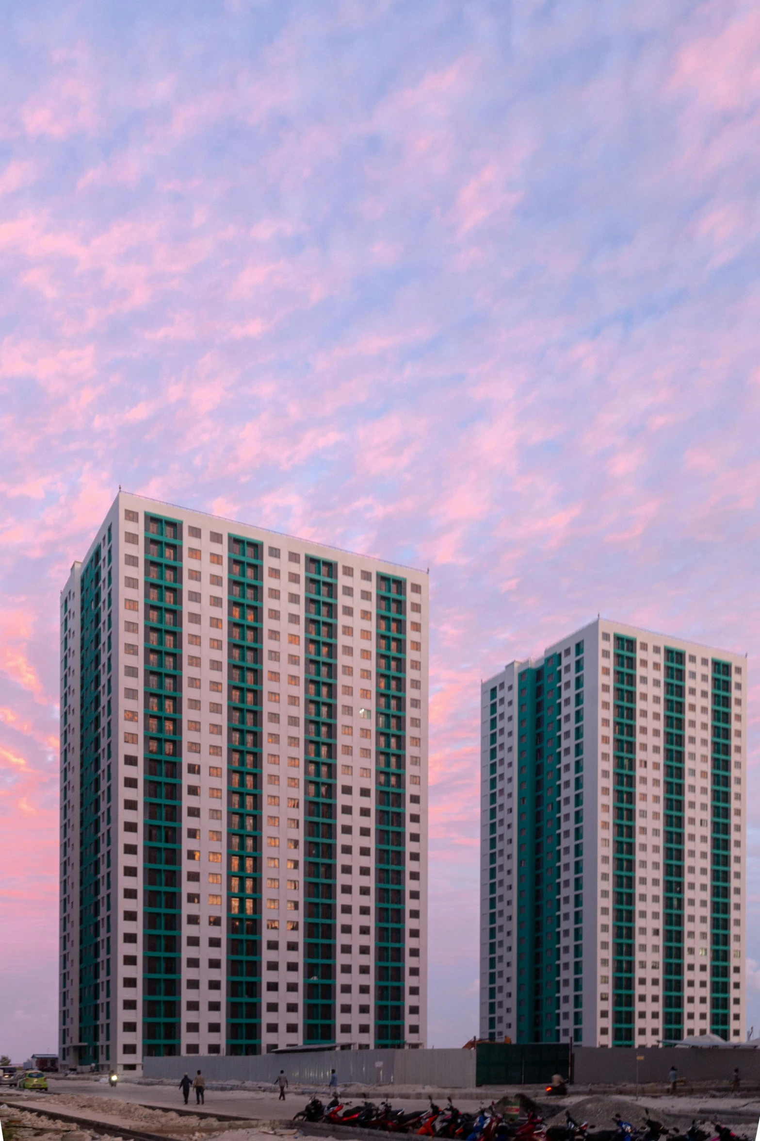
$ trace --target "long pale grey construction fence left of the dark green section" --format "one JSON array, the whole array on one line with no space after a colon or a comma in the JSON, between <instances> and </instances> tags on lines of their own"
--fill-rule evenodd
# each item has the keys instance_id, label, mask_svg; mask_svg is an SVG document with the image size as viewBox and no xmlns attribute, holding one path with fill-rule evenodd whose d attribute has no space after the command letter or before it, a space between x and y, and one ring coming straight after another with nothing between
<instances>
[{"instance_id":1,"label":"long pale grey construction fence left of the dark green section","mask_svg":"<svg viewBox=\"0 0 760 1141\"><path fill-rule=\"evenodd\" d=\"M145 1077L177 1078L201 1069L211 1082L275 1082L281 1069L288 1082L327 1085L334 1069L340 1083L365 1085L436 1085L472 1089L474 1050L329 1050L303 1054L258 1054L247 1058L197 1055L144 1058Z\"/></svg>"}]
</instances>

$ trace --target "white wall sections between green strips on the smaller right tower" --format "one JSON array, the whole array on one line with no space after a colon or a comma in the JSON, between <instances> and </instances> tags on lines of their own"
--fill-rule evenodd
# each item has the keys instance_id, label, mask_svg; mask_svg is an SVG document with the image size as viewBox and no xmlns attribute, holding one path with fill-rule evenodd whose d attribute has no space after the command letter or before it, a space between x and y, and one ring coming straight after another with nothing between
<instances>
[{"instance_id":1,"label":"white wall sections between green strips on the smaller right tower","mask_svg":"<svg viewBox=\"0 0 760 1141\"><path fill-rule=\"evenodd\" d=\"M540 772L541 827L546 826L548 835L557 836L557 852L561 852L557 856L556 881L550 885L556 891L556 1038L544 1037L544 1041L562 1041L573 1035L572 906L573 895L578 893L575 900L582 895L582 992L579 992L582 993L582 1003L575 1005L574 1011L575 1015L580 1012L578 1025L582 1025L582 1030L575 1034L575 1041L583 1045L613 1044L615 876L614 840L611 837L615 834L615 808L620 803L615 800L616 774L613 763L616 715L615 637L632 639L636 644L636 711L635 722L631 722L635 723L635 755L631 754L634 779L630 784L631 800L627 802L627 807L632 810L631 842L635 844L636 883L632 1044L656 1045L668 1038L663 993L663 903L667 875L664 837L669 792L664 763L668 731L664 696L667 649L684 655L683 874L678 876L678 892L683 892L683 1035L706 1033L716 1018L714 1011L726 1009L722 1005L724 996L716 995L711 981L714 965L711 932L714 915L718 914L717 900L720 899L727 901L728 919L728 986L725 995L728 1029L725 1036L729 1041L743 1041L746 953L746 657L605 618L591 622L554 642L547 647L541 659L510 663L481 687L480 1035L497 1041L502 1041L505 1036L512 1041L537 1041L517 1033L520 995L515 958L520 884L515 866L515 828L521 794L517 786L522 778L517 776L518 735L525 728L524 720L521 725L517 678L526 667L537 670L545 662L561 659L563 670L567 672L566 678L564 673L562 675L562 705L557 702L556 714L553 712L551 721L547 718L545 722L547 736L556 734L557 744L553 746L556 752L541 760ZM571 689L571 663L579 645L582 646L585 674L585 705L581 710L583 761L580 782L574 775L578 767L573 764L578 712L572 704ZM716 662L722 663L721 669L726 667L725 680L730 683L729 736L728 722L725 729L726 750L730 745L730 771L726 771L725 779L721 777L725 790L719 792L716 791L711 759ZM555 685L558 686L559 682ZM524 711L522 715L525 715ZM550 768L555 764L556 769ZM555 771L556 778L551 775ZM579 804L582 806L582 873L574 877L572 826L573 810L577 811ZM720 811L729 832L729 849L722 857L727 880L724 872L722 879L716 877L713 820L717 804L722 806ZM575 816L575 823L577 820ZM555 827L556 833L553 831ZM492 845L493 837L496 843ZM493 849L497 852L497 888L493 892L496 903L490 901L493 897L489 890ZM542 887L546 896L546 882ZM530 884L526 890L530 899ZM575 906L579 906L578 903ZM546 900L544 911L546 913ZM492 925L493 917L496 929ZM548 925L547 922L547 928ZM546 1013L544 1017L546 1019Z\"/></svg>"}]
</instances>

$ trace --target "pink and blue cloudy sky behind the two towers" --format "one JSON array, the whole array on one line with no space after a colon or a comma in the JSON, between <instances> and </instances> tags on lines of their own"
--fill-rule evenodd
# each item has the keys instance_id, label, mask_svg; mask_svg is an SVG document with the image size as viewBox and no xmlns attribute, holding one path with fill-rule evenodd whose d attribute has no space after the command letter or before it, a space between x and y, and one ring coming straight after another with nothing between
<instances>
[{"instance_id":1,"label":"pink and blue cloudy sky behind the two towers","mask_svg":"<svg viewBox=\"0 0 760 1141\"><path fill-rule=\"evenodd\" d=\"M0 29L0 1052L55 1049L58 592L120 484L430 568L430 1042L460 1044L480 679L597 613L753 677L760 9Z\"/></svg>"}]
</instances>

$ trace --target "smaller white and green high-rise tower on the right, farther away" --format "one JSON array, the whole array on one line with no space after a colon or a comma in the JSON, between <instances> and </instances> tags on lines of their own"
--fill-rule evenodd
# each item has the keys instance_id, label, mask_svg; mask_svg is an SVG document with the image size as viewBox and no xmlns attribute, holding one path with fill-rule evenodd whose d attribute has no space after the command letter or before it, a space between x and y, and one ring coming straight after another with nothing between
<instances>
[{"instance_id":1,"label":"smaller white and green high-rise tower on the right, farther away","mask_svg":"<svg viewBox=\"0 0 760 1141\"><path fill-rule=\"evenodd\" d=\"M746 658L600 618L481 690L482 1037L744 1037Z\"/></svg>"}]
</instances>

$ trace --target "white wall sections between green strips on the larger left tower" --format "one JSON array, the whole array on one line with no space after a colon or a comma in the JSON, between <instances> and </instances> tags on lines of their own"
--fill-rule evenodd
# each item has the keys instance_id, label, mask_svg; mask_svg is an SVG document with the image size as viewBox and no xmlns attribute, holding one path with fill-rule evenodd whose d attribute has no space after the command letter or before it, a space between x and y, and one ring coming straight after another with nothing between
<instances>
[{"instance_id":1,"label":"white wall sections between green strips on the larger left tower","mask_svg":"<svg viewBox=\"0 0 760 1141\"><path fill-rule=\"evenodd\" d=\"M228 636L231 609L230 536L255 541L263 552L258 583L262 640L258 649L261 715L261 1052L303 1041L304 796L309 779L305 719L309 686L304 639L309 624L307 560L335 566L333 599L336 658L332 683L335 720L335 1041L368 1049L376 1044L376 831L378 785L377 654L381 621L376 602L378 575L406 584L402 614L406 672L402 702L393 709L394 733L406 741L406 880L403 888L404 978L400 1001L401 1043L424 1046L427 1033L427 751L428 751L428 583L425 573L231 523L182 507L120 493L98 528L82 564L74 564L60 596L62 656L62 819L60 819L60 1026L65 1065L79 1061L81 1041L79 955L83 900L80 897L80 577L93 551L103 566L99 689L87 694L101 714L99 837L93 906L100 916L98 977L93 1005L98 1065L103 1069L141 1069L145 897L147 844L147 737L150 696L146 647L150 623L146 543L149 517L181 524L180 701L181 810L181 1051L199 1054L227 1049L226 900L232 890L226 833L230 814L228 780L228 697L231 673ZM155 620L154 620L155 621ZM394 618L394 623L395 623ZM384 628L383 628L384 629ZM387 630L390 631L390 622ZM395 626L394 626L395 629ZM106 646L108 649L106 650ZM107 655L107 662L106 662ZM398 739L398 738L397 738ZM65 744L64 744L65 743ZM400 747L400 746L395 746ZM237 778L236 778L237 779ZM397 777L393 778L394 785ZM112 791L113 790L113 791ZM99 842L100 842L99 840ZM106 849L108 866L106 866ZM137 874L132 868L137 868ZM412 882L412 877L414 882ZM235 889L235 890L243 890ZM125 895L126 893L126 895ZM190 925L191 924L191 925ZM218 924L218 925L213 925ZM199 938L197 932L199 932ZM195 940L189 946L189 940ZM209 946L206 941L211 940ZM213 946L211 945L213 944ZM105 982L108 982L107 997ZM197 981L196 981L197 980ZM268 994L270 980L279 993ZM287 982L287 993L286 993ZM188 989L188 984L191 989ZM296 984L295 987L292 984ZM215 987L214 990L210 989ZM197 994L196 994L197 992ZM194 997L195 995L195 997ZM205 1011L206 996L216 1002ZM199 996L199 998L198 998ZM387 1000L383 1000L387 1002ZM196 1010L188 1017L188 1002ZM90 1000L87 1000L89 1005ZM125 1003L130 1004L126 1009ZM198 1005L201 1009L198 1009ZM268 1009L270 1008L270 1009ZM287 1008L287 1009L286 1009ZM194 1017L195 1014L195 1017ZM189 1050L188 1050L189 1047Z\"/></svg>"}]
</instances>

